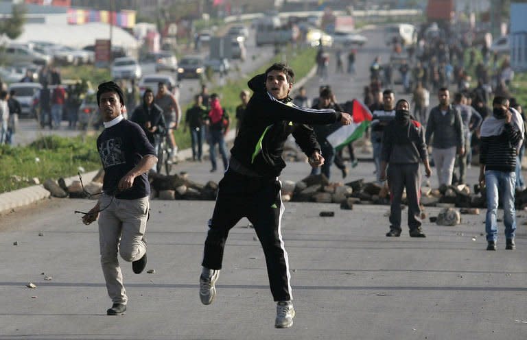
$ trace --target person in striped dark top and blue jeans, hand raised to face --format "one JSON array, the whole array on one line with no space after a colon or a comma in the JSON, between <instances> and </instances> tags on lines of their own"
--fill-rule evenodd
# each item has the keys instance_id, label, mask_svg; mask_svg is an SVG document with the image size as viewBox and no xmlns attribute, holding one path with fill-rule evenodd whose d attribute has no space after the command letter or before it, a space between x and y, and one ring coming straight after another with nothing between
<instances>
[{"instance_id":1,"label":"person in striped dark top and blue jeans, hand raised to face","mask_svg":"<svg viewBox=\"0 0 527 340\"><path fill-rule=\"evenodd\" d=\"M522 117L508 107L508 99L496 96L493 115L481 125L480 184L486 185L487 250L496 250L497 204L502 196L507 250L515 250L516 216L514 193L516 154L525 130Z\"/></svg>"}]
</instances>

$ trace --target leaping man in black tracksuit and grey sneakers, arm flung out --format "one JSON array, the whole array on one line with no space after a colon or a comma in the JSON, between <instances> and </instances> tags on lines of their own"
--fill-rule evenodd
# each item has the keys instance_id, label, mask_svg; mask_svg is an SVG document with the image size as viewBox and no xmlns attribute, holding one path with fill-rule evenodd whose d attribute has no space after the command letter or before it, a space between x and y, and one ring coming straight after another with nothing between
<instances>
[{"instance_id":1,"label":"leaping man in black tracksuit and grey sneakers, arm flung out","mask_svg":"<svg viewBox=\"0 0 527 340\"><path fill-rule=\"evenodd\" d=\"M308 124L351 123L350 115L344 112L294 106L289 97L293 77L288 66L273 64L265 74L253 77L248 83L254 95L231 149L229 169L219 184L200 276L201 302L211 304L229 230L247 217L266 256L271 292L278 302L277 328L292 326L294 317L288 254L281 237L283 206L278 176L285 167L281 158L283 145L289 134L293 134L312 166L318 167L324 158Z\"/></svg>"}]
</instances>

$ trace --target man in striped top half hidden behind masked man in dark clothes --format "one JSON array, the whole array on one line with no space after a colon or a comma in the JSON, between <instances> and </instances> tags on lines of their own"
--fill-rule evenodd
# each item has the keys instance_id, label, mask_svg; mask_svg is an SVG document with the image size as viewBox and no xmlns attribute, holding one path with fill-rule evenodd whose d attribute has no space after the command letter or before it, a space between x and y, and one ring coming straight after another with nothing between
<instances>
[{"instance_id":1,"label":"man in striped top half hidden behind masked man in dark clothes","mask_svg":"<svg viewBox=\"0 0 527 340\"><path fill-rule=\"evenodd\" d=\"M381 151L382 136L388 122L395 118L394 110L395 96L393 90L384 90L382 93L382 109L373 110L371 119L371 145L373 147L373 162L375 162L375 174L377 180L381 175Z\"/></svg>"}]
</instances>

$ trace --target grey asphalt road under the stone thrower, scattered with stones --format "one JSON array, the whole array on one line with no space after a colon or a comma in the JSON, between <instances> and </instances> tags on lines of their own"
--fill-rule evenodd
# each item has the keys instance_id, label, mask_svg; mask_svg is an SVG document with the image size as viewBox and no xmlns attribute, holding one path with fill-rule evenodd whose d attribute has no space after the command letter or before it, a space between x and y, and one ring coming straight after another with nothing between
<instances>
[{"instance_id":1,"label":"grey asphalt road under the stone thrower, scattered with stones","mask_svg":"<svg viewBox=\"0 0 527 340\"><path fill-rule=\"evenodd\" d=\"M382 34L366 35L370 41L358 60L363 71L375 53L384 53L374 45ZM366 77L334 76L338 98L360 98ZM307 83L309 95L318 84ZM331 180L374 180L370 155L360 148L357 153L358 167L344 180L333 168ZM176 171L196 182L218 182L222 173L209 169L208 162L182 162ZM307 164L290 162L281 180L307 174ZM469 169L467 181L476 182L477 175ZM399 238L384 236L388 206L340 210L337 204L285 203L282 234L296 317L292 328L276 330L264 254L246 219L227 241L218 297L211 306L200 304L202 246L214 202L152 200L147 269L155 274L134 275L121 260L128 311L106 316L111 302L99 265L97 226L84 226L73 214L93 204L52 198L1 217L0 339L527 338L524 211L517 212L517 250L504 250L500 225L498 250L487 252L484 210L462 215L455 227L425 220L427 237L412 239L406 226ZM335 217L319 217L323 210ZM29 282L36 289L27 288Z\"/></svg>"}]
</instances>

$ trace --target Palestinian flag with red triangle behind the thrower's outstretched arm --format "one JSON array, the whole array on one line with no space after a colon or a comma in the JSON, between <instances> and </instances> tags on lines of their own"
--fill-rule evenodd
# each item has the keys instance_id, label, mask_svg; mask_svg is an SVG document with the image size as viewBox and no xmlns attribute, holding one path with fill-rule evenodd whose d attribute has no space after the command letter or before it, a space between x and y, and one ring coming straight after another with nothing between
<instances>
[{"instance_id":1,"label":"Palestinian flag with red triangle behind the thrower's outstretched arm","mask_svg":"<svg viewBox=\"0 0 527 340\"><path fill-rule=\"evenodd\" d=\"M362 137L366 127L371 123L370 110L357 99L351 101L351 115L353 122L350 125L342 125L327 136L327 141L337 150Z\"/></svg>"}]
</instances>

